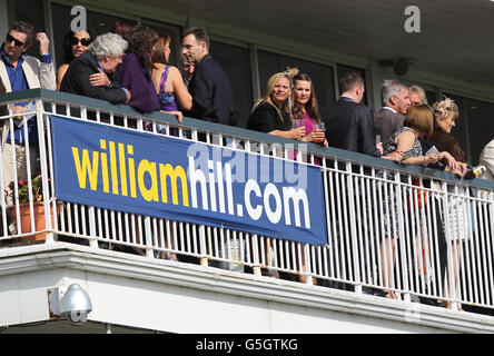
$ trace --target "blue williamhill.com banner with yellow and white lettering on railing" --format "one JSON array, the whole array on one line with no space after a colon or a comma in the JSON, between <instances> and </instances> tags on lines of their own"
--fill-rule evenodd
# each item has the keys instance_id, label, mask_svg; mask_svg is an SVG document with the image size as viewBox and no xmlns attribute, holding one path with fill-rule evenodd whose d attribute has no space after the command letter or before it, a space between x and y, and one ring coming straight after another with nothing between
<instances>
[{"instance_id":1,"label":"blue williamhill.com banner with yellow and white lettering on railing","mask_svg":"<svg viewBox=\"0 0 494 356\"><path fill-rule=\"evenodd\" d=\"M326 245L314 166L51 116L62 201Z\"/></svg>"}]
</instances>

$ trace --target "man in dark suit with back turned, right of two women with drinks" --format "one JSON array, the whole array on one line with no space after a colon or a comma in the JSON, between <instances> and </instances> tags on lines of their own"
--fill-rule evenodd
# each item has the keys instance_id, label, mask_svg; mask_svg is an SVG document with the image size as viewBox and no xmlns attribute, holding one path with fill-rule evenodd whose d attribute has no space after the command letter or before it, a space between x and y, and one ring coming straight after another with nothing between
<instances>
[{"instance_id":1,"label":"man in dark suit with back turned, right of two women with drinks","mask_svg":"<svg viewBox=\"0 0 494 356\"><path fill-rule=\"evenodd\" d=\"M382 146L376 146L373 112L360 103L364 79L349 72L339 79L342 96L334 106L322 109L326 123L326 139L330 147L381 157Z\"/></svg>"}]
</instances>

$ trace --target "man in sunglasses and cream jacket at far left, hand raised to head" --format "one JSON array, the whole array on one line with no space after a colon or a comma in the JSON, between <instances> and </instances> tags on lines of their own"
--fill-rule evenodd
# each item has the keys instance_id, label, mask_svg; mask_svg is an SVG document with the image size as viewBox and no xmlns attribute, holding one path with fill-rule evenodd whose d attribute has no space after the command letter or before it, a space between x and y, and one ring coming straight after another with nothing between
<instances>
[{"instance_id":1,"label":"man in sunglasses and cream jacket at far left, hand raised to head","mask_svg":"<svg viewBox=\"0 0 494 356\"><path fill-rule=\"evenodd\" d=\"M39 43L39 59L28 56L26 52L34 40ZM34 88L56 89L55 66L49 55L50 41L45 32L34 34L32 24L24 21L14 22L6 34L6 40L0 48L0 79L6 87L6 91L21 91ZM36 170L37 155L37 127L36 118L32 116L23 122L22 115L32 110L32 103L17 103L12 107L13 132L10 132L10 120L2 120L1 149L4 188L13 181L13 172L17 170L17 179L28 179L26 135L29 138L29 165L31 174ZM16 152L16 160L12 160L12 150ZM8 197L8 204L11 204ZM10 227L14 233L13 224Z\"/></svg>"}]
</instances>

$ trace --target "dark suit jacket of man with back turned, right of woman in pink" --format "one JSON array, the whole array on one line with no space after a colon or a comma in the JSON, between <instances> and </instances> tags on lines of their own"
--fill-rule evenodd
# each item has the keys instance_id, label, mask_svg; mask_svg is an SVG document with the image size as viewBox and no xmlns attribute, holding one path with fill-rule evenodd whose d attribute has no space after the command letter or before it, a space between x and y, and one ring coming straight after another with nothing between
<instances>
[{"instance_id":1,"label":"dark suit jacket of man with back turned, right of woman in pink","mask_svg":"<svg viewBox=\"0 0 494 356\"><path fill-rule=\"evenodd\" d=\"M363 103L342 97L335 105L323 108L329 147L381 157L376 148L373 111Z\"/></svg>"}]
</instances>

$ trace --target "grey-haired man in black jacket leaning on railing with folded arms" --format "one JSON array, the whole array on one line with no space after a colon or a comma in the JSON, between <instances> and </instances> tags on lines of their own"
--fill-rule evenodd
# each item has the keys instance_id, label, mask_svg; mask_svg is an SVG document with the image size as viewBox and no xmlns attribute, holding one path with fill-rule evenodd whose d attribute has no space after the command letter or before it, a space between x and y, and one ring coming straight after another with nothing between
<instances>
[{"instance_id":1,"label":"grey-haired man in black jacket leaning on railing with folded arms","mask_svg":"<svg viewBox=\"0 0 494 356\"><path fill-rule=\"evenodd\" d=\"M89 50L70 62L60 85L60 91L107 100L111 103L127 103L131 97L130 91L118 87L112 80L126 49L127 41L119 34L98 36Z\"/></svg>"}]
</instances>

